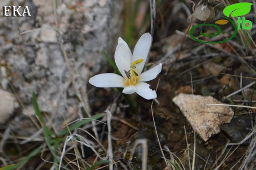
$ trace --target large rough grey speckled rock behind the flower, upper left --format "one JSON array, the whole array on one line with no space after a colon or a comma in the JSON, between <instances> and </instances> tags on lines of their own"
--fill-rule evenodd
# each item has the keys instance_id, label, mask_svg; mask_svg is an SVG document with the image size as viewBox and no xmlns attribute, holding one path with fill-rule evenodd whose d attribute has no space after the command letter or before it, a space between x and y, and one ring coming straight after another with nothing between
<instances>
[{"instance_id":1,"label":"large rough grey speckled rock behind the flower, upper left","mask_svg":"<svg viewBox=\"0 0 256 170\"><path fill-rule=\"evenodd\" d=\"M34 92L40 110L53 115L57 129L61 127L63 117L70 116L71 113L67 112L70 108L77 106L80 111L85 109L90 114L87 83L91 76L104 73L111 67L102 51L113 58L118 37L123 37L121 14L124 2L57 1L60 42L64 46L62 50L57 31L49 29L58 26L52 2L0 1L2 5L26 5L31 14L31 17L0 17L0 35L4 35L0 36L0 88L12 88L19 97L23 107L18 112L34 114ZM2 10L0 8L1 13ZM20 34L30 30L33 31ZM71 71L67 69L63 51L66 52ZM75 79L73 82L71 72ZM76 95L66 96L66 92L70 92L74 86L78 91ZM84 108L79 106L77 93L86 105Z\"/></svg>"}]
</instances>

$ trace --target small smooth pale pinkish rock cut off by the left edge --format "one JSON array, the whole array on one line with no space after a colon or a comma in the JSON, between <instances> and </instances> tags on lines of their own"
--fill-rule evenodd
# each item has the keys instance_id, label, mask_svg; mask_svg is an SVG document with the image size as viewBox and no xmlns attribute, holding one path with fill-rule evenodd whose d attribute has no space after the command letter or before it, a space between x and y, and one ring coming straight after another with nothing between
<instances>
[{"instance_id":1,"label":"small smooth pale pinkish rock cut off by the left edge","mask_svg":"<svg viewBox=\"0 0 256 170\"><path fill-rule=\"evenodd\" d=\"M15 108L15 98L9 92L0 89L0 124L5 123Z\"/></svg>"}]
</instances>

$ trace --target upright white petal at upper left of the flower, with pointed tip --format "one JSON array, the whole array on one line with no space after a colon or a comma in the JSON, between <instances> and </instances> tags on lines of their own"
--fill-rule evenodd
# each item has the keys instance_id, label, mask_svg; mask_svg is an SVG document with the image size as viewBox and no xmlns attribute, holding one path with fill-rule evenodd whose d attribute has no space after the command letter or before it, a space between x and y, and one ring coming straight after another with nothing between
<instances>
[{"instance_id":1,"label":"upright white petal at upper left of the flower, with pointed tip","mask_svg":"<svg viewBox=\"0 0 256 170\"><path fill-rule=\"evenodd\" d=\"M124 43L120 43L115 52L115 62L119 72L126 77L125 70L128 72L130 70L131 64L131 52L127 49Z\"/></svg>"}]
</instances>

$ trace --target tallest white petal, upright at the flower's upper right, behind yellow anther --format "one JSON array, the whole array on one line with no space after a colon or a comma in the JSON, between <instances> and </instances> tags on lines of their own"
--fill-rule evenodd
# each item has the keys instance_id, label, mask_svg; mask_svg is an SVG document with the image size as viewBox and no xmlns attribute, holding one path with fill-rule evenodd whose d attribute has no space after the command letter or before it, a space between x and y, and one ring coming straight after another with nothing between
<instances>
[{"instance_id":1,"label":"tallest white petal, upright at the flower's upper right, behind yellow anther","mask_svg":"<svg viewBox=\"0 0 256 170\"><path fill-rule=\"evenodd\" d=\"M143 34L134 48L131 62L136 61L138 59L143 59L141 63L135 65L136 69L134 69L134 71L138 74L142 72L145 62L147 60L149 49L151 46L151 39L152 37L150 33Z\"/></svg>"}]
</instances>

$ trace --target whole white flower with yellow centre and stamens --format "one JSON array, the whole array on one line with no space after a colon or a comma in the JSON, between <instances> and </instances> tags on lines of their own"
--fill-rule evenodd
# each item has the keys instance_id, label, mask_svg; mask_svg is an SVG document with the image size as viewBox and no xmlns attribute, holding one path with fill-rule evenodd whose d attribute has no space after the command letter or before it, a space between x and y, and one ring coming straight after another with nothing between
<instances>
[{"instance_id":1,"label":"whole white flower with yellow centre and stamens","mask_svg":"<svg viewBox=\"0 0 256 170\"><path fill-rule=\"evenodd\" d=\"M97 74L90 78L89 83L96 87L122 87L123 93L132 94L136 92L141 97L153 99L157 93L145 83L155 79L161 72L162 64L141 73L148 57L151 45L151 35L143 34L137 42L133 55L127 43L119 37L115 52L115 62L122 76L115 73Z\"/></svg>"}]
</instances>

